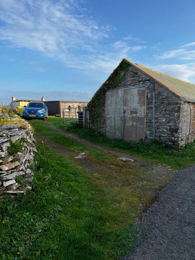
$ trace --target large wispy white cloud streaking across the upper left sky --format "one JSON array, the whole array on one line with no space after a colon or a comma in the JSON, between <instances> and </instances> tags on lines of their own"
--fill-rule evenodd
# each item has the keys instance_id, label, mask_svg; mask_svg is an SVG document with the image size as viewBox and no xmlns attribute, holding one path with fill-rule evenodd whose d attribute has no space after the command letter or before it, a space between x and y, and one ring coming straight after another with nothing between
<instances>
[{"instance_id":1,"label":"large wispy white cloud streaking across the upper left sky","mask_svg":"<svg viewBox=\"0 0 195 260\"><path fill-rule=\"evenodd\" d=\"M107 74L122 58L146 48L142 39L132 35L104 44L114 28L90 17L73 0L1 0L0 17L5 24L0 27L0 40L9 47L39 51L66 67Z\"/></svg>"}]
</instances>

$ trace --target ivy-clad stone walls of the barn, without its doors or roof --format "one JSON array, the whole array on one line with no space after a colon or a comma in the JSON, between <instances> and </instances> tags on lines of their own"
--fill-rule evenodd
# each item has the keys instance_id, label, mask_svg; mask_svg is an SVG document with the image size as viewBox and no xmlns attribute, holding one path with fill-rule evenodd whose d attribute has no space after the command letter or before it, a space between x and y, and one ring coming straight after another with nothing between
<instances>
[{"instance_id":1,"label":"ivy-clad stone walls of the barn, without its doors or roof","mask_svg":"<svg viewBox=\"0 0 195 260\"><path fill-rule=\"evenodd\" d=\"M161 81L156 80L155 77L148 75L147 71L140 69L137 64L133 64L125 59L122 60L88 103L90 126L97 131L101 131L103 135L106 135L107 115L105 97L107 91L145 87L146 113L144 141L149 142L155 138L173 146L181 146L193 141L195 138L194 103L191 102L189 104L177 91L172 91L171 88L165 85ZM155 107L153 107L154 92ZM153 114L153 111L155 114ZM155 127L153 124L154 118Z\"/></svg>"}]
</instances>

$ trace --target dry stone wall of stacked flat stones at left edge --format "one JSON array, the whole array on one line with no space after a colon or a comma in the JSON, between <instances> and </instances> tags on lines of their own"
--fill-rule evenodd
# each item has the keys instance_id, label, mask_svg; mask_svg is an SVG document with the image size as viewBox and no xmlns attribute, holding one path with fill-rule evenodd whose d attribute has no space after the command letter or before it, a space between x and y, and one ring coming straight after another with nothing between
<instances>
[{"instance_id":1,"label":"dry stone wall of stacked flat stones at left edge","mask_svg":"<svg viewBox=\"0 0 195 260\"><path fill-rule=\"evenodd\" d=\"M34 152L37 152L35 139L28 122L17 116L6 119L10 124L0 126L0 192L25 194L31 189L34 176L29 166L33 163ZM15 142L18 146L13 151Z\"/></svg>"}]
</instances>

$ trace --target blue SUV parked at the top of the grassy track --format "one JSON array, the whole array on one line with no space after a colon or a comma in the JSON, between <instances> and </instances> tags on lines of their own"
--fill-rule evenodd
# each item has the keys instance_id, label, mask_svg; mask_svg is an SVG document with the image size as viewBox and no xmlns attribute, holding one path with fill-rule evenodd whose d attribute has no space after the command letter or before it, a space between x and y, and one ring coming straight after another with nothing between
<instances>
[{"instance_id":1,"label":"blue SUV parked at the top of the grassy track","mask_svg":"<svg viewBox=\"0 0 195 260\"><path fill-rule=\"evenodd\" d=\"M29 102L23 108L23 118L42 118L45 120L48 117L48 109L43 102Z\"/></svg>"}]
</instances>

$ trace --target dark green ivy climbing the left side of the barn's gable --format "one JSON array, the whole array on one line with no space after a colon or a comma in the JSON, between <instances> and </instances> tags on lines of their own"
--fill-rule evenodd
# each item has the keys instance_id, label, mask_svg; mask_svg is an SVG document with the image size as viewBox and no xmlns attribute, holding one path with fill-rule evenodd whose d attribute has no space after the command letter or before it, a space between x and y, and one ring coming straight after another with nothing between
<instances>
[{"instance_id":1,"label":"dark green ivy climbing the left side of the barn's gable","mask_svg":"<svg viewBox=\"0 0 195 260\"><path fill-rule=\"evenodd\" d=\"M102 109L105 106L106 91L117 88L125 80L130 66L130 63L126 59L123 59L88 103L90 127L96 131L99 131Z\"/></svg>"}]
</instances>

